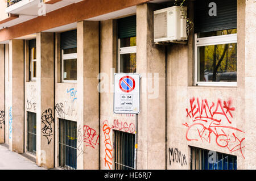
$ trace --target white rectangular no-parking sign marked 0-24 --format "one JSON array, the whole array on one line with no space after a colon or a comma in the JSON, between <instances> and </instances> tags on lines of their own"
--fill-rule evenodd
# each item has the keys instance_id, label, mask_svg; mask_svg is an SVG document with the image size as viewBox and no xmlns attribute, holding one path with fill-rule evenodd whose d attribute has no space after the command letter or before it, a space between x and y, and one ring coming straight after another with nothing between
<instances>
[{"instance_id":1,"label":"white rectangular no-parking sign marked 0-24","mask_svg":"<svg viewBox=\"0 0 256 181\"><path fill-rule=\"evenodd\" d=\"M114 74L114 113L139 113L139 74Z\"/></svg>"}]
</instances>

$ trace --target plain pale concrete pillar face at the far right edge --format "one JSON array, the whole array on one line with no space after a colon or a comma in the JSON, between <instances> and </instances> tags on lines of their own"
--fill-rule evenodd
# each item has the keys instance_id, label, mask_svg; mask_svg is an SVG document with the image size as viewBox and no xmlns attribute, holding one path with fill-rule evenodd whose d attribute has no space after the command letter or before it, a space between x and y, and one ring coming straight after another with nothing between
<instances>
[{"instance_id":1,"label":"plain pale concrete pillar face at the far right edge","mask_svg":"<svg viewBox=\"0 0 256 181\"><path fill-rule=\"evenodd\" d=\"M243 1L244 2L244 1ZM245 1L245 132L246 132L246 149L245 149L245 168L255 169L255 128L256 128L256 65L255 65L255 30L256 22L253 20L256 16L256 3L253 0Z\"/></svg>"}]
</instances>

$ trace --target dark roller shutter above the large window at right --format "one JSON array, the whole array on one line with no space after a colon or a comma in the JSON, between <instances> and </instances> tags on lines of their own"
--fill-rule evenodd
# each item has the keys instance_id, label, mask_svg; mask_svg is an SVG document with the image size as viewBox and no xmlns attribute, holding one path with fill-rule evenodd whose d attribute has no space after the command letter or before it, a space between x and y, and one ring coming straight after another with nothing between
<instances>
[{"instance_id":1,"label":"dark roller shutter above the large window at right","mask_svg":"<svg viewBox=\"0 0 256 181\"><path fill-rule=\"evenodd\" d=\"M217 16L210 16L209 3L216 3ZM195 32L210 32L237 28L237 0L196 0Z\"/></svg>"}]
</instances>

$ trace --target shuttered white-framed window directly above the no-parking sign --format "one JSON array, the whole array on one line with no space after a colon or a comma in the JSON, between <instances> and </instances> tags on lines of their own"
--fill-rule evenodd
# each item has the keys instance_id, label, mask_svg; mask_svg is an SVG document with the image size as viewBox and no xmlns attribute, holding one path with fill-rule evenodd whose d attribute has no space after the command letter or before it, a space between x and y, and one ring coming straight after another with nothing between
<instances>
[{"instance_id":1,"label":"shuttered white-framed window directly above the no-parking sign","mask_svg":"<svg viewBox=\"0 0 256 181\"><path fill-rule=\"evenodd\" d=\"M136 72L136 16L118 19L118 72Z\"/></svg>"}]
</instances>

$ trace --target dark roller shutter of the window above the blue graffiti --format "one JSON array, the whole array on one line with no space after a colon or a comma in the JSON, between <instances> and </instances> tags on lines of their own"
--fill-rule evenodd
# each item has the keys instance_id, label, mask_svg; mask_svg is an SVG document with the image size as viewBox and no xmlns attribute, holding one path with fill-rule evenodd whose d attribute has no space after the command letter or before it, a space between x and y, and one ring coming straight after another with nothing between
<instances>
[{"instance_id":1,"label":"dark roller shutter of the window above the blue graffiti","mask_svg":"<svg viewBox=\"0 0 256 181\"><path fill-rule=\"evenodd\" d=\"M77 47L77 30L71 30L60 33L60 48L76 48Z\"/></svg>"}]
</instances>

